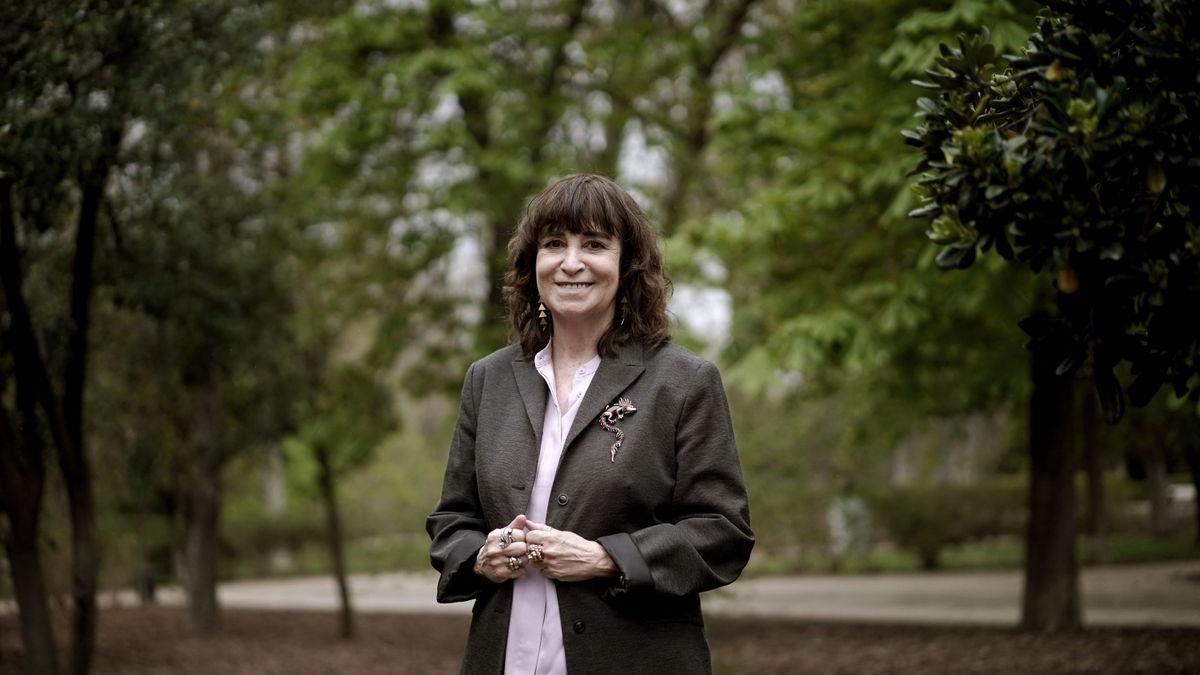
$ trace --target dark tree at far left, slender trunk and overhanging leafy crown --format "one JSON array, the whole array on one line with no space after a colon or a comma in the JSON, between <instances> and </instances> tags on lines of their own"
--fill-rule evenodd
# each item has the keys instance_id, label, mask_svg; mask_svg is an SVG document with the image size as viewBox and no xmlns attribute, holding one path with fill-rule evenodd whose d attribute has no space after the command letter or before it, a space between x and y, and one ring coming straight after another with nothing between
<instances>
[{"instance_id":1,"label":"dark tree at far left, slender trunk and overhanging leafy crown","mask_svg":"<svg viewBox=\"0 0 1200 675\"><path fill-rule=\"evenodd\" d=\"M98 285L94 267L104 262L97 255L109 252L103 249L108 241L97 235L101 226L108 227L115 249L122 241L115 217L121 209L114 207L109 179L140 178L144 167L130 161L130 147L146 133L169 135L191 119L186 112L196 101L193 85L203 88L230 53L239 53L229 38L242 18L230 6L211 4L106 1L6 6L0 22L6 123L0 171L10 207L2 267L13 318L6 347L22 364L17 389L24 393L18 398L37 401L66 484L73 673L88 671L96 629L98 549L83 411ZM64 275L71 279L68 293L50 271L61 269L64 259L72 261L70 276ZM70 298L68 311L59 310L58 294ZM31 312L29 298L44 304ZM56 381L61 390L52 384ZM28 418L31 410L22 412ZM36 441L35 422L23 420L30 432L18 435ZM26 453L30 448L26 443Z\"/></svg>"}]
</instances>

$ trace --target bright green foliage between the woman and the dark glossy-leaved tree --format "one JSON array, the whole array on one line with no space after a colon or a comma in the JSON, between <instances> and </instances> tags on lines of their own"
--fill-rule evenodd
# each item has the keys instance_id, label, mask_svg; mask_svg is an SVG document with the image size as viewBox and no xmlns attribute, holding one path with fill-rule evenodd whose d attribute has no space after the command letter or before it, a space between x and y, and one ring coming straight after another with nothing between
<instances>
[{"instance_id":1,"label":"bright green foliage between the woman and the dark glossy-leaved tree","mask_svg":"<svg viewBox=\"0 0 1200 675\"><path fill-rule=\"evenodd\" d=\"M1009 25L1022 11L815 2L746 49L748 78L776 84L731 91L713 138L714 183L730 202L680 235L728 269L739 386L774 388L784 371L815 395L857 390L863 417L847 426L893 440L913 416L1021 396L1021 374L996 368L1019 345L995 336L1028 305L1028 285L1002 265L985 279L923 271L931 252L902 227L911 160L896 138L913 91L899 80L904 62L931 59L937 36L968 19Z\"/></svg>"}]
</instances>

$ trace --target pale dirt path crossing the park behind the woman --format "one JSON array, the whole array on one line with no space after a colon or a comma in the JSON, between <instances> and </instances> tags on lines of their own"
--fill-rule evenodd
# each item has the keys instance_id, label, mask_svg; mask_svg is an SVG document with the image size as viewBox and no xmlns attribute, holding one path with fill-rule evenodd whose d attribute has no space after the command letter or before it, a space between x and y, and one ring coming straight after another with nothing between
<instances>
[{"instance_id":1,"label":"pale dirt path crossing the park behind the woman","mask_svg":"<svg viewBox=\"0 0 1200 675\"><path fill-rule=\"evenodd\" d=\"M355 609L466 615L469 603L433 601L433 573L358 575ZM1200 627L1200 560L1093 567L1084 571L1084 614L1091 626ZM1016 571L929 574L760 577L704 595L712 616L817 621L1015 626L1021 579ZM336 608L329 578L222 584L221 604L234 609ZM178 590L161 593L182 603ZM106 593L108 607L136 604L132 593Z\"/></svg>"}]
</instances>

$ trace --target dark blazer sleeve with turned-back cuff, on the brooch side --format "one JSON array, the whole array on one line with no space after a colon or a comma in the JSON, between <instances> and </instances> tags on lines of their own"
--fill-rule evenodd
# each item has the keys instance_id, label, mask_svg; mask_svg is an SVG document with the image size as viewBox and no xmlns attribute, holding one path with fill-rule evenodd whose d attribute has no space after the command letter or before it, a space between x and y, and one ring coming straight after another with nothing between
<instances>
[{"instance_id":1,"label":"dark blazer sleeve with turned-back cuff, on the brooch side","mask_svg":"<svg viewBox=\"0 0 1200 675\"><path fill-rule=\"evenodd\" d=\"M716 366L703 362L688 392L676 423L672 521L599 539L620 567L617 593L708 591L731 584L750 558L750 508Z\"/></svg>"}]
</instances>

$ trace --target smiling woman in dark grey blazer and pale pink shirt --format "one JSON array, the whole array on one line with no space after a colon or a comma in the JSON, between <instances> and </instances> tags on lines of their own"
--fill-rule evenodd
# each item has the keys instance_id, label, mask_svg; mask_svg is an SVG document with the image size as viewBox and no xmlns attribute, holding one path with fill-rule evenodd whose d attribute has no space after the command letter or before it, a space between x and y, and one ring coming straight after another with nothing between
<instances>
[{"instance_id":1,"label":"smiling woman in dark grey blazer and pale pink shirt","mask_svg":"<svg viewBox=\"0 0 1200 675\"><path fill-rule=\"evenodd\" d=\"M438 602L474 599L463 673L707 673L700 592L754 546L713 364L667 342L656 237L569 175L509 243L518 344L473 364L426 522Z\"/></svg>"}]
</instances>

